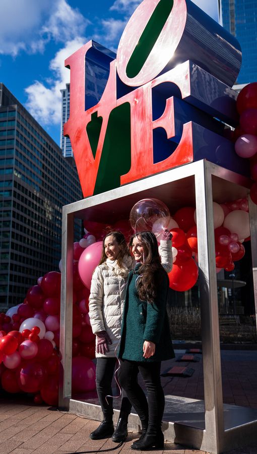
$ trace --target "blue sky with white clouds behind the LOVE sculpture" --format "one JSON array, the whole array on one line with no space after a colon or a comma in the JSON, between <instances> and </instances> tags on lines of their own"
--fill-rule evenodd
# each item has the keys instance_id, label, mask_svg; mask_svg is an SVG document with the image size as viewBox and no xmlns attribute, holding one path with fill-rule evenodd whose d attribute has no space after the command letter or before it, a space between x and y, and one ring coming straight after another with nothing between
<instances>
[{"instance_id":1,"label":"blue sky with white clouds behind the LOVE sculpture","mask_svg":"<svg viewBox=\"0 0 257 454\"><path fill-rule=\"evenodd\" d=\"M90 39L116 50L141 0L1 0L0 82L59 144L65 59ZM194 0L217 19L216 0Z\"/></svg>"}]
</instances>

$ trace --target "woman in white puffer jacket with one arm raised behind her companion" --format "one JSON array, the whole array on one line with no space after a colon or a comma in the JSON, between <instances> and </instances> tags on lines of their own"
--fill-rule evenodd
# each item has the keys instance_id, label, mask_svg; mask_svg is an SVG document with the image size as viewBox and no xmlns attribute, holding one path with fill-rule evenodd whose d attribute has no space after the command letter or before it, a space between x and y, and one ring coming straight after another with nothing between
<instances>
[{"instance_id":1,"label":"woman in white puffer jacket with one arm raised behind her companion","mask_svg":"<svg viewBox=\"0 0 257 454\"><path fill-rule=\"evenodd\" d=\"M171 237L164 231L159 247L162 266L167 272L172 269ZM96 334L96 388L103 412L102 423L90 434L94 440L112 436L113 441L121 442L127 436L127 418L132 406L122 392L119 420L114 431L111 382L120 342L127 275L135 264L124 236L120 232L108 233L103 239L100 263L92 276L89 297L90 323Z\"/></svg>"}]
</instances>

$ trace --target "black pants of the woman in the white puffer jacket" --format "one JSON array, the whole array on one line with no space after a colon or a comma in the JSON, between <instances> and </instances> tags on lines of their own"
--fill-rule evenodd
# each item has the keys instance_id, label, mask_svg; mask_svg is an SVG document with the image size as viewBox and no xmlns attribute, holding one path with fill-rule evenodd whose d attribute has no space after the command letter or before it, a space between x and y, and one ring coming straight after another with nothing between
<instances>
[{"instance_id":1,"label":"black pants of the woman in the white puffer jacket","mask_svg":"<svg viewBox=\"0 0 257 454\"><path fill-rule=\"evenodd\" d=\"M97 358L96 362L96 389L98 399L103 412L103 417L107 421L112 420L112 395L111 382L116 365L116 358ZM117 366L118 367L118 366ZM132 405L122 390L120 416L127 417L131 412Z\"/></svg>"}]
</instances>

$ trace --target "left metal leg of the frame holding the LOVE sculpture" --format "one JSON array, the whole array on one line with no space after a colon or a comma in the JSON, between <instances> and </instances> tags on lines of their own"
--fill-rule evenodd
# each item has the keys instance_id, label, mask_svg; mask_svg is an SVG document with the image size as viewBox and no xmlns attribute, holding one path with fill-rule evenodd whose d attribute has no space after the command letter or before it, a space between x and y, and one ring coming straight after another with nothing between
<instances>
[{"instance_id":1,"label":"left metal leg of the frame holding the LOVE sculpture","mask_svg":"<svg viewBox=\"0 0 257 454\"><path fill-rule=\"evenodd\" d=\"M72 395L74 214L62 209L59 408L69 410Z\"/></svg>"}]
</instances>

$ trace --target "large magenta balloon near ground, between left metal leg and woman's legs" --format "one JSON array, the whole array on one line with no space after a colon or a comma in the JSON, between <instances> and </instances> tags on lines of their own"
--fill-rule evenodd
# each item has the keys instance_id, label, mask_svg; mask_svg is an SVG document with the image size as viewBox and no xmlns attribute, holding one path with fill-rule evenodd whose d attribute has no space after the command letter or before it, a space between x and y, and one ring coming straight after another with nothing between
<instances>
[{"instance_id":1,"label":"large magenta balloon near ground, between left metal leg and woman's legs","mask_svg":"<svg viewBox=\"0 0 257 454\"><path fill-rule=\"evenodd\" d=\"M72 360L72 390L73 392L92 391L95 389L95 365L84 356Z\"/></svg>"}]
</instances>

